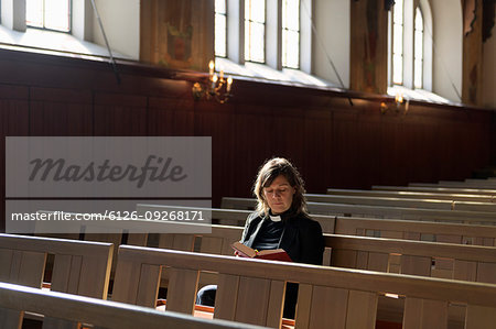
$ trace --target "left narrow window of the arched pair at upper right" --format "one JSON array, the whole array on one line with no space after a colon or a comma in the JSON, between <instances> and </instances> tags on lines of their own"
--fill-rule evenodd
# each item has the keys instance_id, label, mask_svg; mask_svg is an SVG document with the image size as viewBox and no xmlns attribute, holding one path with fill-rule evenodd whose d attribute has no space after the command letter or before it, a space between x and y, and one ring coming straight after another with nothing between
<instances>
[{"instance_id":1,"label":"left narrow window of the arched pair at upper right","mask_svg":"<svg viewBox=\"0 0 496 329\"><path fill-rule=\"evenodd\" d=\"M392 10L392 84L403 84L403 0L396 0Z\"/></svg>"}]
</instances>

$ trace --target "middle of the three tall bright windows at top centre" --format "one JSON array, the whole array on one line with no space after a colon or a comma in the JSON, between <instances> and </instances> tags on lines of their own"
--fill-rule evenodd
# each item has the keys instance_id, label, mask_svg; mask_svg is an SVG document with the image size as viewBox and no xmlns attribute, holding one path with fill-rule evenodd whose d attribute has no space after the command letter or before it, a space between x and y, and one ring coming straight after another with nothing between
<instances>
[{"instance_id":1,"label":"middle of the three tall bright windows at top centre","mask_svg":"<svg viewBox=\"0 0 496 329\"><path fill-rule=\"evenodd\" d=\"M245 61L266 62L266 0L245 0Z\"/></svg>"}]
</instances>

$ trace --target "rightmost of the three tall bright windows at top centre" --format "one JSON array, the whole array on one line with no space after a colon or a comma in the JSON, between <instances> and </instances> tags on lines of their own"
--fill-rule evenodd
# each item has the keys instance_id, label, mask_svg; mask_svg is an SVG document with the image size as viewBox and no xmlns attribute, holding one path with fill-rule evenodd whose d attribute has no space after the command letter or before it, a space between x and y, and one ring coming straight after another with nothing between
<instances>
[{"instance_id":1,"label":"rightmost of the three tall bright windows at top centre","mask_svg":"<svg viewBox=\"0 0 496 329\"><path fill-rule=\"evenodd\" d=\"M300 67L300 0L282 1L282 66Z\"/></svg>"}]
</instances>

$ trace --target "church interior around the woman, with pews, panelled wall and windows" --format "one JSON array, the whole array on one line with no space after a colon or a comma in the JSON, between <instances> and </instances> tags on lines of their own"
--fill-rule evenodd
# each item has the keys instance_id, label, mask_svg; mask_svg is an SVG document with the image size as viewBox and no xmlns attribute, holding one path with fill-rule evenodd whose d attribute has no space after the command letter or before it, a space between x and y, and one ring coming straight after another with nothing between
<instances>
[{"instance_id":1,"label":"church interior around the woman, with pews, panelled wall and windows","mask_svg":"<svg viewBox=\"0 0 496 329\"><path fill-rule=\"evenodd\" d=\"M493 328L495 7L0 0L0 328ZM196 150L197 175L168 162L169 180L148 194L45 188L45 178L30 189L33 175L15 168L21 149L52 151L53 138L123 140L130 158L143 139L180 141L184 154ZM274 157L304 180L322 265L233 257L247 218L271 205L254 186ZM187 191L165 190L176 180ZM262 194L283 199L267 182ZM207 213L208 232L149 218L12 229L12 209L28 202L46 215L115 200L127 213ZM262 221L287 213L273 209ZM212 284L215 304L200 305Z\"/></svg>"}]
</instances>

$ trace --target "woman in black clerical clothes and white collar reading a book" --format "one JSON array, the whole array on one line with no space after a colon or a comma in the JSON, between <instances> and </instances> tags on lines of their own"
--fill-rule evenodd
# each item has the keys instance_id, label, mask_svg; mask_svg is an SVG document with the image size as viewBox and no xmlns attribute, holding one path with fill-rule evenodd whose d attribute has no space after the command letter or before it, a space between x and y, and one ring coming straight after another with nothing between
<instances>
[{"instance_id":1,"label":"woman in black clerical clothes and white collar reading a book","mask_svg":"<svg viewBox=\"0 0 496 329\"><path fill-rule=\"evenodd\" d=\"M322 264L324 238L321 224L306 213L304 183L285 158L274 157L258 172L254 194L257 210L248 216L240 242L256 250L283 249L293 262ZM197 304L214 306L216 286L198 292ZM285 292L285 318L294 318L298 284Z\"/></svg>"}]
</instances>

